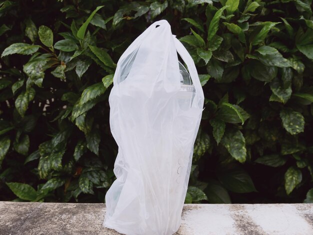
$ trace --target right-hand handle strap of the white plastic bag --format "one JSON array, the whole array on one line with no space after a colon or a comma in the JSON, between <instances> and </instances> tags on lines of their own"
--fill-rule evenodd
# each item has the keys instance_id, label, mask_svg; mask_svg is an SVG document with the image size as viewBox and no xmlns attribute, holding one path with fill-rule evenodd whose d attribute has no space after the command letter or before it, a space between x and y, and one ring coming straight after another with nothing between
<instances>
[{"instance_id":1,"label":"right-hand handle strap of the white plastic bag","mask_svg":"<svg viewBox=\"0 0 313 235\"><path fill-rule=\"evenodd\" d=\"M191 80L195 87L196 92L198 92L198 94L201 97L204 97L200 79L196 71L192 57L190 56L186 48L183 46L183 44L176 38L175 35L173 35L173 38L174 38L174 43L175 43L175 47L176 47L178 54L187 65L187 68L189 70L190 77L191 77Z\"/></svg>"}]
</instances>

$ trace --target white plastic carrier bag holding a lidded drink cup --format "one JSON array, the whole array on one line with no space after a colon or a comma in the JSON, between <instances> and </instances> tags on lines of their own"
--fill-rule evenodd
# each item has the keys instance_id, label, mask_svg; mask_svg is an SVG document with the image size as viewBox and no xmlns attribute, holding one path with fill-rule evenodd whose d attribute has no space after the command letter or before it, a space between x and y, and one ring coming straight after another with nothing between
<instances>
[{"instance_id":1,"label":"white plastic carrier bag holding a lidded drink cup","mask_svg":"<svg viewBox=\"0 0 313 235\"><path fill-rule=\"evenodd\" d=\"M192 85L181 84L177 52ZM118 154L105 227L127 235L177 231L203 100L193 60L166 20L152 23L121 55L109 95Z\"/></svg>"}]
</instances>

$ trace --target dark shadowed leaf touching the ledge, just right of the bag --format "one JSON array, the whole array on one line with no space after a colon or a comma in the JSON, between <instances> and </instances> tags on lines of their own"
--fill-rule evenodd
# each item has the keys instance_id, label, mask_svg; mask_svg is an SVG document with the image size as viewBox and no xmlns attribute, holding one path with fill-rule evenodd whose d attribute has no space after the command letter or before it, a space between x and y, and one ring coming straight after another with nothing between
<instances>
[{"instance_id":1,"label":"dark shadowed leaf touching the ledge, just right of the bag","mask_svg":"<svg viewBox=\"0 0 313 235\"><path fill-rule=\"evenodd\" d=\"M231 203L228 191L216 180L209 180L204 192L209 203Z\"/></svg>"}]
</instances>

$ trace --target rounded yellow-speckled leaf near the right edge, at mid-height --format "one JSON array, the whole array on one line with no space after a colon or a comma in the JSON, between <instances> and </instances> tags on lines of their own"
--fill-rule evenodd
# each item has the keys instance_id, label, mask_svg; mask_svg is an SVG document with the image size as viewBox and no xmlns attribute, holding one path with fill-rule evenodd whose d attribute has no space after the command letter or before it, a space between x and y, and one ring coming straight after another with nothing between
<instances>
[{"instance_id":1,"label":"rounded yellow-speckled leaf near the right edge, at mid-height","mask_svg":"<svg viewBox=\"0 0 313 235\"><path fill-rule=\"evenodd\" d=\"M304 117L301 113L284 108L279 115L282 126L290 134L298 134L304 131Z\"/></svg>"}]
</instances>

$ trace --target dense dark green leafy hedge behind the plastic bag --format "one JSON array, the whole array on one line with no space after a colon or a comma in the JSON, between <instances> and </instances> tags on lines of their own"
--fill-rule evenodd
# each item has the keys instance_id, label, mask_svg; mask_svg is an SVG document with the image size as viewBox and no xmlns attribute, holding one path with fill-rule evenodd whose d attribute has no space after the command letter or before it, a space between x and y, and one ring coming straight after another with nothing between
<instances>
[{"instance_id":1,"label":"dense dark green leafy hedge behind the plastic bag","mask_svg":"<svg viewBox=\"0 0 313 235\"><path fill-rule=\"evenodd\" d=\"M104 201L116 63L166 19L205 95L185 202L312 202L311 3L0 0L0 200Z\"/></svg>"}]
</instances>

